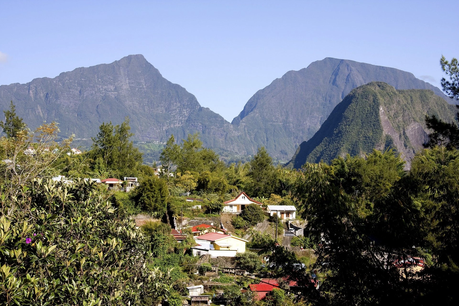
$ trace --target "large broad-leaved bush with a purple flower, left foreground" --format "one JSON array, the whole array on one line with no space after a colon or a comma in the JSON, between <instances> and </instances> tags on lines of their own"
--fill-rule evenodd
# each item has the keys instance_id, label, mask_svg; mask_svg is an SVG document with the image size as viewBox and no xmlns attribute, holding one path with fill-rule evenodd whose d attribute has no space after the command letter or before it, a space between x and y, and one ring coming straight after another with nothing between
<instances>
[{"instance_id":1,"label":"large broad-leaved bush with a purple flower, left foreground","mask_svg":"<svg viewBox=\"0 0 459 306\"><path fill-rule=\"evenodd\" d=\"M166 292L162 273L144 266L145 236L117 217L93 183L34 179L1 212L6 305L140 305Z\"/></svg>"}]
</instances>

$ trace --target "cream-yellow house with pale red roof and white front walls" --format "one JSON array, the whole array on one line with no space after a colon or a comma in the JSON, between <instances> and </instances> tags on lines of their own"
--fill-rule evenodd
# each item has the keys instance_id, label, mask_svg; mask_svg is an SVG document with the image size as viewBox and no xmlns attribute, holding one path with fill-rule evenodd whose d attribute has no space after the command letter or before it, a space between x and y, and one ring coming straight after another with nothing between
<instances>
[{"instance_id":1,"label":"cream-yellow house with pale red roof and white front walls","mask_svg":"<svg viewBox=\"0 0 459 306\"><path fill-rule=\"evenodd\" d=\"M233 235L220 233L207 233L194 238L198 244L191 248L194 256L208 254L211 257L234 257L236 253L243 253L246 251L246 242L248 242L245 239Z\"/></svg>"}]
</instances>

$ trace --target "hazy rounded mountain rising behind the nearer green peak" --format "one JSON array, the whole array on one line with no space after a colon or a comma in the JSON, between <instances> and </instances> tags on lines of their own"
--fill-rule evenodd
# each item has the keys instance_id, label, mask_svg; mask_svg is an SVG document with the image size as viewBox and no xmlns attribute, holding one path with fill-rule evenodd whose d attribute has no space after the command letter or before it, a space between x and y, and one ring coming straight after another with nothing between
<instances>
[{"instance_id":1,"label":"hazy rounded mountain rising behind the nearer green peak","mask_svg":"<svg viewBox=\"0 0 459 306\"><path fill-rule=\"evenodd\" d=\"M247 151L265 146L272 156L288 159L352 89L372 81L396 89L431 89L445 97L440 89L410 72L327 57L289 71L258 90L231 123L247 135Z\"/></svg>"}]
</instances>

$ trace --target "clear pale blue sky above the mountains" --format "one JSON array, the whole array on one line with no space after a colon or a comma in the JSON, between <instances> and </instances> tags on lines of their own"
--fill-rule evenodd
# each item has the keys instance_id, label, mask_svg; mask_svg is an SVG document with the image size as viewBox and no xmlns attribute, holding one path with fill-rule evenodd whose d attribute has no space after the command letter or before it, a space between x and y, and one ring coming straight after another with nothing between
<instances>
[{"instance_id":1,"label":"clear pale blue sky above the mountains","mask_svg":"<svg viewBox=\"0 0 459 306\"><path fill-rule=\"evenodd\" d=\"M0 1L0 84L143 54L231 121L289 70L325 57L438 86L459 56L459 1Z\"/></svg>"}]
</instances>

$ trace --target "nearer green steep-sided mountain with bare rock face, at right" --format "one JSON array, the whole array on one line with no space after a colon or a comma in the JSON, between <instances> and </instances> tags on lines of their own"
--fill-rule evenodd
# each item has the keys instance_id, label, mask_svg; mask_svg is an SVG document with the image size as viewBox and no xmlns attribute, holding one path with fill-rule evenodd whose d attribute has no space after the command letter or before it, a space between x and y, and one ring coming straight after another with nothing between
<instances>
[{"instance_id":1,"label":"nearer green steep-sided mountain with bare rock face, at right","mask_svg":"<svg viewBox=\"0 0 459 306\"><path fill-rule=\"evenodd\" d=\"M373 149L395 148L409 167L427 140L425 115L453 122L455 108L431 90L397 90L382 82L365 84L335 107L288 164L300 168L306 161L330 162L346 154L362 156Z\"/></svg>"}]
</instances>

